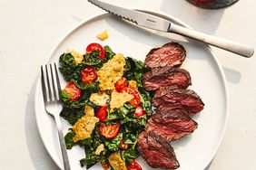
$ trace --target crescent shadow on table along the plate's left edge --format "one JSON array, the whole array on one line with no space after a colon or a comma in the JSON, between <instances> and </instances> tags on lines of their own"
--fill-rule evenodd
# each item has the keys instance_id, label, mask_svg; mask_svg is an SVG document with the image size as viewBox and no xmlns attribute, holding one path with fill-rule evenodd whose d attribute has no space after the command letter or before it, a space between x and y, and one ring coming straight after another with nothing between
<instances>
[{"instance_id":1,"label":"crescent shadow on table along the plate's left edge","mask_svg":"<svg viewBox=\"0 0 256 170\"><path fill-rule=\"evenodd\" d=\"M34 115L34 90L36 79L28 94L26 109L25 109L25 138L29 151L29 155L34 164L36 170L57 170L57 165L48 155L44 144L39 135L38 128L36 126L36 120Z\"/></svg>"}]
</instances>

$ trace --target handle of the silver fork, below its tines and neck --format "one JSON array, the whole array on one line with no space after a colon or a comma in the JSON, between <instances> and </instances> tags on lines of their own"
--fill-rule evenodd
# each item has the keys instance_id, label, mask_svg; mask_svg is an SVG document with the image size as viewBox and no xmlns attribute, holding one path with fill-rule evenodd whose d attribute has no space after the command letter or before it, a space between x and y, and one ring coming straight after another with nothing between
<instances>
[{"instance_id":1,"label":"handle of the silver fork, below its tines and neck","mask_svg":"<svg viewBox=\"0 0 256 170\"><path fill-rule=\"evenodd\" d=\"M59 116L54 116L54 119L55 119L56 126L58 129L58 137L59 137L63 161L64 161L64 170L70 170L69 160L68 160L66 146L65 146L65 142L64 142L64 133L63 133L63 128L62 128L61 118Z\"/></svg>"}]
</instances>

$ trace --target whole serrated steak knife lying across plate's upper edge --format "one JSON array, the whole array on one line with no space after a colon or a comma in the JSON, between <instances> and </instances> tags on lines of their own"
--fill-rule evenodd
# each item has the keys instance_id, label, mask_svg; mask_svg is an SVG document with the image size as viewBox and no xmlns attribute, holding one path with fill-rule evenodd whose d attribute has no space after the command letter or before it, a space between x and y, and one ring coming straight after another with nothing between
<instances>
[{"instance_id":1,"label":"whole serrated steak knife lying across plate's upper edge","mask_svg":"<svg viewBox=\"0 0 256 170\"><path fill-rule=\"evenodd\" d=\"M116 5L110 5L98 0L88 1L111 14L115 14L125 20L133 22L134 24L145 28L150 28L153 30L167 33L177 33L192 38L194 40L206 42L215 47L219 47L223 50L233 52L247 58L250 58L254 52L253 48L249 45L242 44L240 42L232 42L230 40L222 39L206 33L200 33L192 29L173 24L168 20L165 20L158 16L154 16L152 14L146 14Z\"/></svg>"}]
</instances>

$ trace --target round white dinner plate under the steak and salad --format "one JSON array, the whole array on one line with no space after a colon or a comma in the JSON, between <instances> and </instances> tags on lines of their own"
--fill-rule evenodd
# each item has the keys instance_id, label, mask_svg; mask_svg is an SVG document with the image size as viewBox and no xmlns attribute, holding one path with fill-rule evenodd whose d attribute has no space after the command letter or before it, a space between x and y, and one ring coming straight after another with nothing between
<instances>
[{"instance_id":1,"label":"round white dinner plate under the steak and salad","mask_svg":"<svg viewBox=\"0 0 256 170\"><path fill-rule=\"evenodd\" d=\"M188 25L173 17L143 11L162 16L173 23L188 27ZM189 89L195 90L202 97L205 108L200 114L193 117L198 122L198 128L192 135L172 143L172 146L181 165L179 169L199 170L205 168L212 161L220 146L228 113L227 89L222 67L212 54L211 49L201 42L185 39L179 35L156 33L137 28L135 25L123 22L112 14L104 13L85 20L71 33L68 33L55 48L49 62L58 62L59 56L70 48L78 52L84 52L87 44L99 42L95 35L103 32L104 29L107 29L110 37L106 41L100 42L101 44L109 45L113 52L122 52L125 56L132 56L142 61L152 48L162 46L166 42L180 42L186 48L187 58L182 64L182 68L190 71L192 86ZM64 80L62 84L64 87ZM39 79L36 85L34 102L37 126L44 146L56 165L63 167L54 119L44 111ZM70 126L64 120L63 125L65 134ZM79 160L84 157L83 148L74 146L72 150L68 150L68 156L72 169L85 169L79 164ZM138 161L143 169L150 169L142 158L139 158ZM102 167L101 165L94 165L92 169L102 169Z\"/></svg>"}]
</instances>

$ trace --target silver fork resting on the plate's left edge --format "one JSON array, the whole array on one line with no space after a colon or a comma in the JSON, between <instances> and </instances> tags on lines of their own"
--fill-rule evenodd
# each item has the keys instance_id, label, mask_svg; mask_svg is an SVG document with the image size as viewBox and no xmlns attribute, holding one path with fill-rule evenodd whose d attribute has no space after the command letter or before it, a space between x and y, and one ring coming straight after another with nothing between
<instances>
[{"instance_id":1,"label":"silver fork resting on the plate's left edge","mask_svg":"<svg viewBox=\"0 0 256 170\"><path fill-rule=\"evenodd\" d=\"M50 72L48 68L50 67ZM45 72L44 72L45 69ZM44 79L44 76L46 79ZM42 80L42 90L44 96L44 108L46 112L52 115L55 119L55 123L58 130L58 137L60 141L62 157L64 162L64 170L70 170L69 160L66 152L66 146L64 142L64 134L62 130L62 123L60 118L60 112L63 109L60 101L61 85L58 76L58 71L56 69L56 64L54 63L54 69L52 64L50 66L45 65L45 68L41 66L41 80Z\"/></svg>"}]
</instances>

